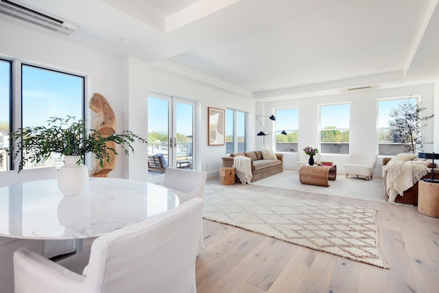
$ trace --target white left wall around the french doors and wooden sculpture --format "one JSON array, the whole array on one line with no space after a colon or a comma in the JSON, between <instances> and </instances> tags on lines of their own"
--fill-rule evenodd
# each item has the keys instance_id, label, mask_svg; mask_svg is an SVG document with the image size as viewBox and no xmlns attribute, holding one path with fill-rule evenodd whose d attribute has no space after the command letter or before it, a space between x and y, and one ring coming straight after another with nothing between
<instances>
[{"instance_id":1,"label":"white left wall around the french doors and wooden sculpture","mask_svg":"<svg viewBox=\"0 0 439 293\"><path fill-rule=\"evenodd\" d=\"M86 100L93 93L104 95L115 111L118 132L130 129L147 137L147 92L150 90L197 101L197 113L201 117L196 134L199 150L197 167L208 172L209 177L219 176L226 146L207 145L207 107L235 108L254 117L254 102L245 91L236 91L233 86L220 82L219 86L215 86L209 78L198 81L203 78L200 73L173 73L169 68L162 69L135 58L109 56L3 21L0 21L0 36L0 57L85 75ZM89 124L93 117L94 113L88 110L86 118ZM251 132L254 132L253 123L250 121ZM249 148L254 148L252 137L249 137ZM93 165L94 162L91 167ZM136 143L134 154L128 157L119 155L117 167L109 176L146 180L145 145Z\"/></svg>"}]
</instances>

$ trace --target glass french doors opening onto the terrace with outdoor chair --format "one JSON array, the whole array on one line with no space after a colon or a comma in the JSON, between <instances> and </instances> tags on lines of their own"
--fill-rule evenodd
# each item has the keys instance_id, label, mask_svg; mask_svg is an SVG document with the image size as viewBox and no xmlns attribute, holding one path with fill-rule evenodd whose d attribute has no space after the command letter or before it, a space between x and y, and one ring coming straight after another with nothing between
<instances>
[{"instance_id":1,"label":"glass french doors opening onto the terrace with outdoor chair","mask_svg":"<svg viewBox=\"0 0 439 293\"><path fill-rule=\"evenodd\" d=\"M163 154L169 167L194 169L195 102L148 93L148 155Z\"/></svg>"}]
</instances>

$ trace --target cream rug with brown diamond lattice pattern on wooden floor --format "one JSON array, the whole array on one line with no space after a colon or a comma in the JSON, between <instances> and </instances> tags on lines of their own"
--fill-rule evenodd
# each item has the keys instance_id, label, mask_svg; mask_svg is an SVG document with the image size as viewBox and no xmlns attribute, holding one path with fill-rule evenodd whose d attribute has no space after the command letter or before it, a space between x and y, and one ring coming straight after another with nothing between
<instances>
[{"instance_id":1,"label":"cream rug with brown diamond lattice pattern on wooden floor","mask_svg":"<svg viewBox=\"0 0 439 293\"><path fill-rule=\"evenodd\" d=\"M390 268L379 253L374 209L224 188L204 193L203 218Z\"/></svg>"}]
</instances>

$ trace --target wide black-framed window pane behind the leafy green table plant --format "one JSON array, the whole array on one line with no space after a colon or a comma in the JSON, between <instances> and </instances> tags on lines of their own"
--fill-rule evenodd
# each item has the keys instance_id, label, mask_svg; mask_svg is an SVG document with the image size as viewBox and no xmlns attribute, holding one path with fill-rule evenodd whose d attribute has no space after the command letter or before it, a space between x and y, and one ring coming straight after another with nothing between
<instances>
[{"instance_id":1,"label":"wide black-framed window pane behind the leafy green table plant","mask_svg":"<svg viewBox=\"0 0 439 293\"><path fill-rule=\"evenodd\" d=\"M21 67L22 125L45 126L50 117L84 118L84 77L30 65ZM62 165L58 155L25 168Z\"/></svg>"}]
</instances>

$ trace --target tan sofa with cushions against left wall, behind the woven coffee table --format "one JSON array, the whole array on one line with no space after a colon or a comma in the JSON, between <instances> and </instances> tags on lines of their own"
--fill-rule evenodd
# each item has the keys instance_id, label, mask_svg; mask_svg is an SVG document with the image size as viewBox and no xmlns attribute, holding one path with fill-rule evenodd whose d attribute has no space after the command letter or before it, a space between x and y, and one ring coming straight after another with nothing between
<instances>
[{"instance_id":1,"label":"tan sofa with cushions against left wall, behind the woven coffee table","mask_svg":"<svg viewBox=\"0 0 439 293\"><path fill-rule=\"evenodd\" d=\"M261 180L268 176L283 172L283 154L276 153L276 159L263 159L260 150L251 152L235 152L222 157L223 167L232 167L235 156L248 156L252 160L252 179L250 182ZM236 176L236 182L239 178Z\"/></svg>"}]
</instances>

